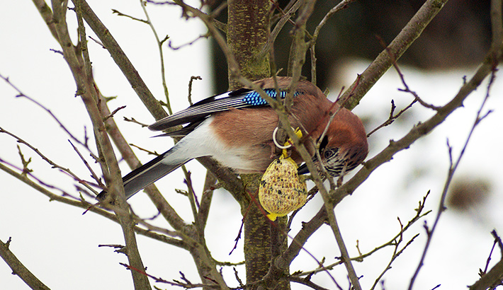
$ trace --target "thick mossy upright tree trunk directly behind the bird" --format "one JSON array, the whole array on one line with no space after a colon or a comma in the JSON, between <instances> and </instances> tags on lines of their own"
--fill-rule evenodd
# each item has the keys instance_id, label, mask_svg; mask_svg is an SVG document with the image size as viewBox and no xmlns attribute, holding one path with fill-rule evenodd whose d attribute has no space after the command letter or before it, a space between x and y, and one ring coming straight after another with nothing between
<instances>
[{"instance_id":1,"label":"thick mossy upright tree trunk directly behind the bird","mask_svg":"<svg viewBox=\"0 0 503 290\"><path fill-rule=\"evenodd\" d=\"M269 54L258 59L261 49L266 45L270 35L269 16L271 1L269 0L237 0L229 1L227 20L227 45L234 53L239 64L241 74L252 81L271 76ZM240 88L242 85L233 79L229 71L230 89ZM259 189L261 175L242 175L247 192L255 196ZM258 200L258 199L256 199ZM262 214L260 206L250 200L249 206L243 206L244 219L244 259L247 269L247 284L261 280L271 263L271 223ZM283 219L284 221L284 219ZM280 224L285 224L280 223ZM284 233L284 231L273 231ZM281 235L281 233L279 233ZM286 247L286 239L276 237ZM273 250L276 256L277 243ZM254 285L252 289L256 289ZM275 289L290 289L288 282L276 284Z\"/></svg>"}]
</instances>

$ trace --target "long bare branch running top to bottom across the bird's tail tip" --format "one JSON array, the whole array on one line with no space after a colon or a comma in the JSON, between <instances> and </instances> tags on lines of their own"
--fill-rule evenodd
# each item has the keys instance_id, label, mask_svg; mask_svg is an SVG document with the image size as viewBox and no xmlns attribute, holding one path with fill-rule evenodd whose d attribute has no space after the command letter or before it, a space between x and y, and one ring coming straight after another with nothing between
<instances>
[{"instance_id":1,"label":"long bare branch running top to bottom across the bird's tail tip","mask_svg":"<svg viewBox=\"0 0 503 290\"><path fill-rule=\"evenodd\" d=\"M79 36L81 37L81 40L86 42L85 30L81 16L85 14L83 11L88 11L90 8L84 0L74 0L74 5L75 11L77 12L77 23L79 24ZM101 163L101 166L107 181L108 190L111 192L112 197L115 198L117 208L120 209L115 211L115 214L117 214L118 221L120 222L120 226L123 230L125 244L128 249L128 261L131 265L135 265L137 268L143 268L140 253L137 249L134 231L135 224L132 216L130 216L128 212L128 204L125 201L120 169L115 155L113 154L111 141L108 139L106 134L106 128L103 124L103 116L98 108L98 93L96 86L94 86L89 55L87 54L85 45L84 50L80 50L81 47L74 47L74 45L72 45L66 21L67 1L63 1L63 3L61 3L61 1L52 0L52 8L54 9L53 20L57 31L57 40L63 50L64 59L69 65L70 71L72 71L74 81L77 83L77 95L81 96L93 124L96 144L98 146L98 150L101 150L100 153L102 154L104 160L104 162ZM103 31L102 33L108 33L108 30ZM111 48L109 45L106 45L106 47L108 50ZM135 272L132 272L131 274L135 288L150 288L148 279Z\"/></svg>"}]
</instances>

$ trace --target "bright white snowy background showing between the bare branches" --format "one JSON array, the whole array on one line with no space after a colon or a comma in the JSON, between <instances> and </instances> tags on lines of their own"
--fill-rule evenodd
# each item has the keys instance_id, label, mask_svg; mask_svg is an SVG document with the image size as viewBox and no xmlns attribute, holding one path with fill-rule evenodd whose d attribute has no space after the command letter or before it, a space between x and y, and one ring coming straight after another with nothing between
<instances>
[{"instance_id":1,"label":"bright white snowy background showing between the bare branches","mask_svg":"<svg viewBox=\"0 0 503 290\"><path fill-rule=\"evenodd\" d=\"M152 93L157 98L164 99L159 53L151 30L145 24L111 13L111 9L115 8L137 18L145 18L139 1L88 3L121 45ZM148 6L148 9L159 37L168 34L174 45L189 42L205 33L198 21L180 20L179 8ZM74 28L73 13L69 12L67 17L72 23L70 27ZM94 37L89 28L86 32ZM50 51L60 48L30 1L1 5L0 40L0 74L9 76L23 93L50 108L70 132L79 138L83 137L84 126L91 128L89 117L86 116L80 98L74 98L76 88L67 64L60 54ZM89 41L88 45L98 87L103 95L118 96L118 99L109 103L111 110L127 105L115 115L115 121L128 141L158 153L169 149L171 140L152 139L150 137L153 134L148 129L123 122L123 117L135 117L145 123L153 122L153 118L138 100L108 52L93 41ZM175 111L188 105L187 84L191 76L203 78L203 81L195 81L193 84L193 100L200 100L215 93L210 86L208 55L205 40L182 50L165 48L166 80ZM334 98L341 86L349 86L356 74L363 71L366 65L368 64L363 62L353 62L349 66L341 66L339 70L343 71L343 77L331 88L330 97ZM429 103L443 105L456 94L462 77L470 77L475 68L448 72L404 71L412 90L417 91ZM367 131L388 117L391 99L395 100L399 109L412 100L409 95L397 91L397 88L401 87L395 71L389 71L358 105L355 112L373 120L368 124ZM503 124L503 115L500 112L502 91L502 81L497 79L492 89L492 98L486 107L494 112L477 127L456 175L458 178L487 178L492 182L492 196L486 204L470 210L468 214L453 210L443 214L424 268L419 274L416 289L432 289L437 284L442 284L440 289L464 289L466 285L476 281L478 268L485 266L492 245L490 231L495 228L503 236L503 185L500 169L503 164L500 145ZM16 92L12 88L0 81L0 127L18 134L60 166L71 168L81 178L89 178L89 173L67 141L69 137L59 129L47 112L25 98L15 98L15 95ZM468 98L465 108L455 112L434 133L413 144L408 151L398 153L390 163L376 170L354 195L339 204L336 214L352 256L357 255L354 247L356 240L359 240L362 252L366 253L394 236L399 230L397 216L405 224L414 216L417 202L428 190L431 190L431 195L426 202L426 209L433 209L434 212L426 220L431 226L448 168L446 139L449 139L454 156L457 156L483 95L485 86L481 86ZM419 108L417 105L416 110L407 115L405 122L393 124L373 134L369 139L369 156L372 157L382 150L390 139L402 137L412 124L426 120L431 115L431 110ZM88 133L91 136L91 132ZM36 176L47 183L74 192L74 182L70 178L50 169L47 163L26 146L21 148L26 158L33 159L30 168ZM135 152L143 162L152 158L146 153ZM89 154L84 153L84 156ZM16 141L5 134L0 134L0 158L17 166L21 164ZM91 160L88 158L88 161ZM122 166L123 173L128 173L127 166ZM188 168L193 173L193 180L204 175L205 171L196 162L189 163ZM12 237L10 249L47 286L51 289L132 288L130 273L118 265L119 262L127 262L125 257L113 253L111 248L98 248L99 244L123 244L120 226L92 213L82 216L81 209L49 202L47 197L4 172L0 173L0 184L0 239L5 242ZM167 199L179 209L179 214L191 221L187 200L172 193L174 188L186 188L181 173L172 173L157 185L165 195L169 195ZM202 185L196 184L196 192L200 193L201 187ZM155 214L155 209L149 205L147 197L141 192L132 197L130 203L140 216L147 218ZM239 262L242 260L242 241L239 242L238 251L231 256L227 255L234 245L234 238L241 223L239 207L232 197L222 190L215 193L212 206L206 231L208 247L217 260ZM319 197L307 204L296 218L292 233L298 231L300 221L308 221L320 207ZM162 221L156 222L165 226ZM392 265L393 268L385 275L386 289L403 289L408 285L424 246L422 221L419 221L405 238L410 238L415 233L421 233L421 236L398 257ZM191 281L198 282L190 255L142 236L138 236L138 240L140 253L150 274L169 280L179 279L178 272L181 271ZM310 239L306 248L318 260L326 257L328 263L333 262L334 257L339 255L339 250L334 248L334 245L331 231L324 226ZM389 257L390 249L376 253L363 263L354 263L357 273L364 275L361 279L364 289L370 288L377 275L387 265ZM499 250L495 250L493 255L493 261L497 260ZM291 271L315 267L315 261L301 253L298 260L293 262ZM244 279L244 269L240 268L239 271L240 277ZM341 276L344 271L345 269L340 267L333 272L338 282L343 285L346 283L344 276ZM225 268L224 272L227 273L230 286L237 286L232 269ZM317 274L313 281L330 289L334 288L327 274ZM169 288L163 284L156 285ZM21 279L12 275L11 269L0 261L0 289L27 288ZM293 284L293 289L305 287Z\"/></svg>"}]
</instances>

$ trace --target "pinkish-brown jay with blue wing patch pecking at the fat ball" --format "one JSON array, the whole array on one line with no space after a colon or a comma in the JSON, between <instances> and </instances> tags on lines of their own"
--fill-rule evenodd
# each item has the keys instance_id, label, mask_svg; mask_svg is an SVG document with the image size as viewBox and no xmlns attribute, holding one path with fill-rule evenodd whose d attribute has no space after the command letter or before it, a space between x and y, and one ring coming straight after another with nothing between
<instances>
[{"instance_id":1,"label":"pinkish-brown jay with blue wing patch pecking at the fat ball","mask_svg":"<svg viewBox=\"0 0 503 290\"><path fill-rule=\"evenodd\" d=\"M286 98L290 81L290 77L277 76L254 83L272 98ZM329 123L331 115L334 117ZM185 125L175 132L159 135L183 138L168 151L123 177L126 198L188 161L203 156L210 156L236 173L264 173L277 157L273 156L273 132L278 120L276 112L258 92L239 88L205 98L154 122L148 127L152 131ZM305 144L317 168L323 166L332 177L353 170L368 154L361 120L350 110L332 103L310 81L298 81L289 120L294 128L303 130L303 136L319 141L323 135L319 147L321 162L317 160L313 142ZM296 163L303 162L295 149L291 154ZM304 164L298 168L298 173L309 173L309 170ZM101 200L105 196L106 190L103 190L97 198Z\"/></svg>"}]
</instances>

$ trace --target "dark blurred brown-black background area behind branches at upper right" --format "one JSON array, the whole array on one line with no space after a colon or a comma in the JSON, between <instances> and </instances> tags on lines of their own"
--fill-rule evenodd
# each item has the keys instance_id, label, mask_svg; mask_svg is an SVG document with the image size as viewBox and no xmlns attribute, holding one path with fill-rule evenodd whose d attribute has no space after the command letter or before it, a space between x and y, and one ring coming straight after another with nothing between
<instances>
[{"instance_id":1,"label":"dark blurred brown-black background area behind branches at upper right","mask_svg":"<svg viewBox=\"0 0 503 290\"><path fill-rule=\"evenodd\" d=\"M208 1L215 8L224 0ZM290 1L278 1L285 8ZM329 87L337 79L337 66L347 58L372 60L381 51L382 38L389 43L424 4L421 0L358 0L351 8L339 11L329 18L317 40L317 85ZM307 22L307 30L313 31L327 11L334 6L333 1L317 1L315 11ZM416 40L400 58L400 64L408 64L421 69L452 69L473 66L480 63L490 47L491 23L490 0L451 0L429 23L421 37ZM226 22L227 10L217 17ZM290 52L292 25L287 23L281 30L274 52L276 66L286 74ZM378 36L378 37L376 37ZM212 42L213 75L215 91L227 91L227 71L225 57ZM309 58L303 67L303 76L310 77Z\"/></svg>"}]
</instances>

